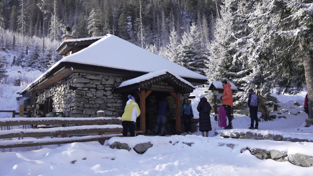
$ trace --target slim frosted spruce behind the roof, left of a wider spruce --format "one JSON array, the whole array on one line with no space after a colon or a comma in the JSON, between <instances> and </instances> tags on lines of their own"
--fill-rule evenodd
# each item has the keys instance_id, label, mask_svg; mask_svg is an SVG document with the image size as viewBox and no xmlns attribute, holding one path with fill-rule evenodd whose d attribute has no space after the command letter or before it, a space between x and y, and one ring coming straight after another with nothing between
<instances>
[{"instance_id":1,"label":"slim frosted spruce behind the roof, left of a wider spruce","mask_svg":"<svg viewBox=\"0 0 313 176\"><path fill-rule=\"evenodd\" d=\"M177 36L177 32L176 32L175 28L172 28L172 31L170 34L170 43L167 45L168 59L172 62L177 62L178 46L179 46L179 39Z\"/></svg>"}]
</instances>

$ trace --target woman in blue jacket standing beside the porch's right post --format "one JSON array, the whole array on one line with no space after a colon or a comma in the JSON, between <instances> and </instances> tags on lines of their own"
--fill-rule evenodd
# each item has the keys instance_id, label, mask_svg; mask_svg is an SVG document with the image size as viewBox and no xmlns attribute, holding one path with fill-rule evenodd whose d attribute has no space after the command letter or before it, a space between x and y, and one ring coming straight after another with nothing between
<instances>
[{"instance_id":1,"label":"woman in blue jacket standing beside the porch's right post","mask_svg":"<svg viewBox=\"0 0 313 176\"><path fill-rule=\"evenodd\" d=\"M191 130L191 119L193 117L193 112L192 112L192 107L189 104L189 100L187 97L184 99L184 102L182 105L181 116L184 117L184 128L185 128L184 135L187 135L187 133L191 134L190 130ZM187 126L187 119L188 119L188 126Z\"/></svg>"}]
</instances>

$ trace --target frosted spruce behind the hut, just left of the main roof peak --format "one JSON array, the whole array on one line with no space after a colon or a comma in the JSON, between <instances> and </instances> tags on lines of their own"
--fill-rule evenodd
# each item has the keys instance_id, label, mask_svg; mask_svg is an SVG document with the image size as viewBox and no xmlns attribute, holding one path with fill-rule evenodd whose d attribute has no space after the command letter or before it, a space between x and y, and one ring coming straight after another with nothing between
<instances>
[{"instance_id":1,"label":"frosted spruce behind the hut, just left of the main roof peak","mask_svg":"<svg viewBox=\"0 0 313 176\"><path fill-rule=\"evenodd\" d=\"M97 11L93 8L90 12L89 18L88 18L88 34L91 37L99 37L101 36L100 32L100 20L96 13Z\"/></svg>"}]
</instances>

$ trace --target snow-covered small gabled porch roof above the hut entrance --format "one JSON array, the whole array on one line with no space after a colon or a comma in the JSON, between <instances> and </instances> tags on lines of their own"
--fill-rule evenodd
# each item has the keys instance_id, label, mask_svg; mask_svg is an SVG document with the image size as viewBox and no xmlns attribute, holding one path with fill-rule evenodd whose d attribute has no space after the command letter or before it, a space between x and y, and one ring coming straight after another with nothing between
<instances>
[{"instance_id":1,"label":"snow-covered small gabled porch roof above the hut entrance","mask_svg":"<svg viewBox=\"0 0 313 176\"><path fill-rule=\"evenodd\" d=\"M148 74L146 74L146 75L142 75L142 76L139 76L139 77L137 77L137 78L124 81L124 82L122 82L122 84L121 84L119 87L124 87L124 86L126 86L126 85L132 85L132 84L140 83L141 81L149 80L149 79L151 79L151 78L154 78L154 77L160 76L160 75L165 75L166 73L172 74L172 72L169 71L169 70L167 70L167 69L163 69L163 70L159 70L159 71L155 71L155 72L150 72L150 73L148 73ZM180 76L177 76L177 75L175 75L175 74L172 74L172 75L174 75L175 77L177 77L177 79L181 80L182 82L184 82L184 83L186 83L187 85L190 85L191 87L194 88L194 86L193 86L190 82L188 82L188 81L182 79Z\"/></svg>"}]
</instances>

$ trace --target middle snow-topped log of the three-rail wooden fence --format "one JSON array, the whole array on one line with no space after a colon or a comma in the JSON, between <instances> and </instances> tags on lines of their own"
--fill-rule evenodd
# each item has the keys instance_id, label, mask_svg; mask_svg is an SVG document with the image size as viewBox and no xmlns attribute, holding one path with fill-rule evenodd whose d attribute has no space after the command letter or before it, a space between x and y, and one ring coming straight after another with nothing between
<instances>
[{"instance_id":1,"label":"middle snow-topped log of the three-rail wooden fence","mask_svg":"<svg viewBox=\"0 0 313 176\"><path fill-rule=\"evenodd\" d=\"M115 126L115 125L113 125ZM98 133L98 132L122 132L123 127L112 128L112 125L86 125L76 127L58 127L48 129L15 129L3 130L0 132L0 139L13 137L44 137L62 134L81 134L81 133Z\"/></svg>"}]
</instances>

